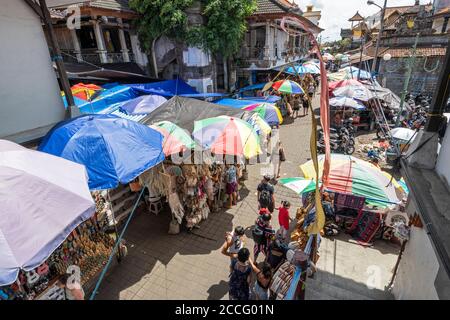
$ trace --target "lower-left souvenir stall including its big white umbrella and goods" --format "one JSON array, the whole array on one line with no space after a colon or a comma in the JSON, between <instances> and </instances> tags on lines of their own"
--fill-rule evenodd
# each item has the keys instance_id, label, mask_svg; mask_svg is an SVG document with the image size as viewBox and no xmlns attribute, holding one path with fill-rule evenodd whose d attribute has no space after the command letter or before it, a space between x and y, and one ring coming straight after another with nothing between
<instances>
[{"instance_id":1,"label":"lower-left souvenir stall including its big white umbrella and goods","mask_svg":"<svg viewBox=\"0 0 450 320\"><path fill-rule=\"evenodd\" d=\"M63 158L3 140L0 158L0 299L64 299L58 279L72 271L92 289L114 245L105 193L91 194L85 167Z\"/></svg>"}]
</instances>

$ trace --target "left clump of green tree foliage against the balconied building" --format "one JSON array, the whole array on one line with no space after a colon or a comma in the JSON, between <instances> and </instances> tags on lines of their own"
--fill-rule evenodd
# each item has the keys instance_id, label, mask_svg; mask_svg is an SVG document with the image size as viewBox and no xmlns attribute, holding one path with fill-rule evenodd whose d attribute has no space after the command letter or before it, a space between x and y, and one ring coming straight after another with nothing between
<instances>
[{"instance_id":1,"label":"left clump of green tree foliage against the balconied building","mask_svg":"<svg viewBox=\"0 0 450 320\"><path fill-rule=\"evenodd\" d=\"M140 42L147 52L160 36L183 40L188 19L185 9L194 0L130 0L131 9L140 14L135 20Z\"/></svg>"}]
</instances>

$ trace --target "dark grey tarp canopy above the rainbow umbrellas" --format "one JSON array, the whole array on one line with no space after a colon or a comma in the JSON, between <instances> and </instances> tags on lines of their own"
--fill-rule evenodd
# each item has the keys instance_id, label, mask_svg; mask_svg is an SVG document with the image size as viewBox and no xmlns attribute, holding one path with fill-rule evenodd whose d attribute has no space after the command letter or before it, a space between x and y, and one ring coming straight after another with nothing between
<instances>
[{"instance_id":1,"label":"dark grey tarp canopy above the rainbow umbrellas","mask_svg":"<svg viewBox=\"0 0 450 320\"><path fill-rule=\"evenodd\" d=\"M242 118L244 114L246 114L246 111L242 109L233 109L197 99L177 96L162 104L140 122L151 125L166 120L192 132L194 122L197 120L221 115Z\"/></svg>"}]
</instances>

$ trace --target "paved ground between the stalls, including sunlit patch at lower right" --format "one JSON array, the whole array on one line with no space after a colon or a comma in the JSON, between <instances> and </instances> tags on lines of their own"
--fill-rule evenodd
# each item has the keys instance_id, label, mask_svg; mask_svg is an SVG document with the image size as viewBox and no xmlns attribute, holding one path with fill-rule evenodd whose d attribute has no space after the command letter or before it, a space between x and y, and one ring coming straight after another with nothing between
<instances>
[{"instance_id":1,"label":"paved ground between the stalls, including sunlit patch at lower right","mask_svg":"<svg viewBox=\"0 0 450 320\"><path fill-rule=\"evenodd\" d=\"M314 105L317 104L318 101L315 101ZM287 158L282 166L282 177L298 176L299 165L309 160L310 127L309 117L298 118L295 122L280 127L281 141ZM168 213L158 216L137 214L126 233L128 256L106 277L97 299L228 299L229 260L220 253L220 247L225 232L237 225L253 225L257 216L255 190L261 180L262 169L263 165L249 167L249 180L240 191L242 200L238 205L228 211L211 214L195 234L182 232L175 236L168 235ZM276 187L275 197L278 202L289 200L293 204L293 212L299 205L298 197L281 186ZM274 225L278 227L277 219L274 220ZM250 236L248 229L247 234ZM343 250L337 251L338 243L339 249ZM251 239L248 238L246 246L251 249L252 245ZM388 247L383 253L379 250L361 249L348 244L345 237L342 240L324 240L322 247L324 249L320 253L324 271L311 282L310 294L307 297L385 297L384 293L379 294L379 290L368 291L361 283L366 277L365 266L370 265L371 261L379 264L385 259L387 261L383 261L382 281L377 286L382 288L389 278L390 268L395 263L392 248ZM355 252L355 256L349 258L352 252ZM339 263L338 268L336 261ZM372 293L379 295L374 296Z\"/></svg>"}]
</instances>

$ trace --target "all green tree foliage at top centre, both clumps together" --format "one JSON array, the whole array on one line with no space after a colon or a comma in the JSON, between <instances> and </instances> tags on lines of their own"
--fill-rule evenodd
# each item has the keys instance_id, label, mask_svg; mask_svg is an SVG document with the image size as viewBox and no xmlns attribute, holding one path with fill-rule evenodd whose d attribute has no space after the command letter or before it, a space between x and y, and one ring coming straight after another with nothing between
<instances>
[{"instance_id":1,"label":"all green tree foliage at top centre, both clumps together","mask_svg":"<svg viewBox=\"0 0 450 320\"><path fill-rule=\"evenodd\" d=\"M256 0L201 0L204 24L189 26L185 10L194 2L130 0L130 7L141 15L137 30L143 48L149 51L153 39L165 35L224 57L239 51Z\"/></svg>"}]
</instances>

